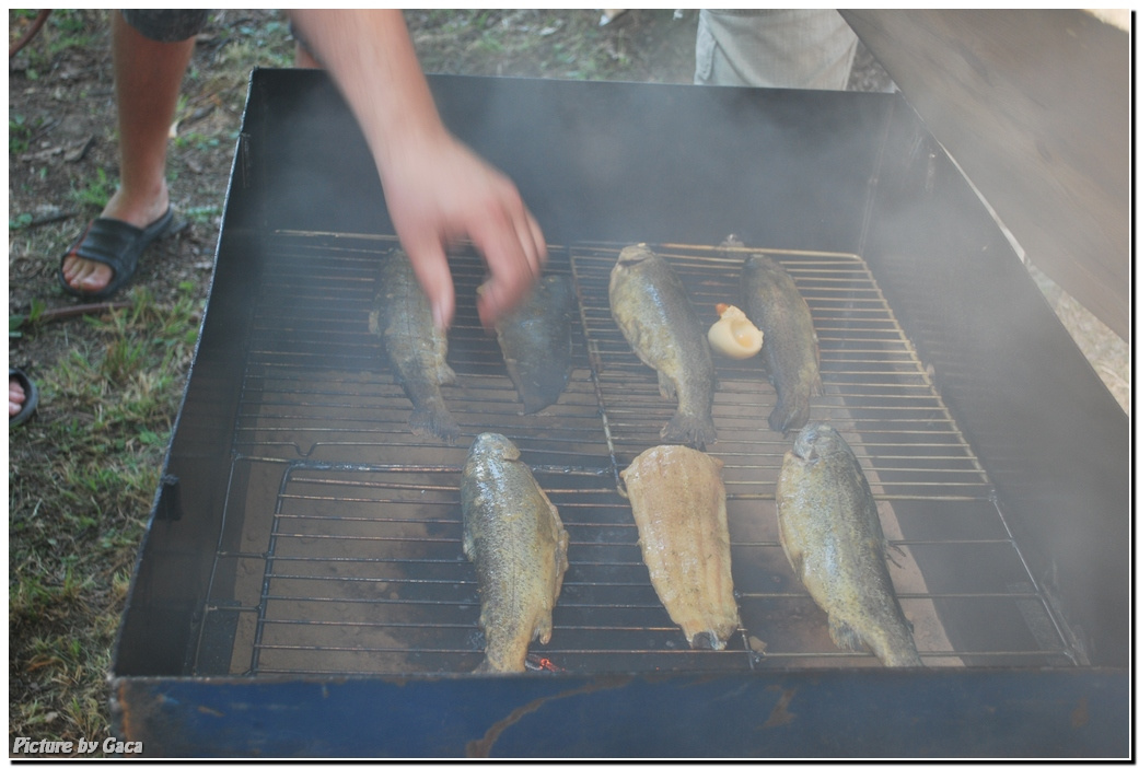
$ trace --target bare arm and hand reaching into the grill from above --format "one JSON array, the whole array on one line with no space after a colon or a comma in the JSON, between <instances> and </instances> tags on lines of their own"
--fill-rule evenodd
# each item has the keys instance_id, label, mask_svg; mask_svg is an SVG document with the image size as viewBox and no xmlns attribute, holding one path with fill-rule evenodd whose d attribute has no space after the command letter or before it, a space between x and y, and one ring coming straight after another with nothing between
<instances>
[{"instance_id":1,"label":"bare arm and hand reaching into the grill from above","mask_svg":"<svg viewBox=\"0 0 1139 768\"><path fill-rule=\"evenodd\" d=\"M522 299L546 260L542 230L514 182L443 125L399 10L290 10L349 103L371 149L387 209L432 304L454 312L449 242L469 237L490 279L478 316L491 327Z\"/></svg>"}]
</instances>

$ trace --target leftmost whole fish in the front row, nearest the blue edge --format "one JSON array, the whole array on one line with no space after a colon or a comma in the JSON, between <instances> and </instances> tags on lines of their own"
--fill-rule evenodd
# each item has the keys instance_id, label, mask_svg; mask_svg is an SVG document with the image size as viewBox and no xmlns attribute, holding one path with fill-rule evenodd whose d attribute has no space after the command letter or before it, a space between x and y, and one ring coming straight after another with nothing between
<instances>
[{"instance_id":1,"label":"leftmost whole fish in the front row, nearest the blue edge","mask_svg":"<svg viewBox=\"0 0 1139 768\"><path fill-rule=\"evenodd\" d=\"M570 536L517 446L484 432L467 451L460 484L462 552L475 564L486 635L476 672L522 672L526 648L554 631Z\"/></svg>"}]
</instances>

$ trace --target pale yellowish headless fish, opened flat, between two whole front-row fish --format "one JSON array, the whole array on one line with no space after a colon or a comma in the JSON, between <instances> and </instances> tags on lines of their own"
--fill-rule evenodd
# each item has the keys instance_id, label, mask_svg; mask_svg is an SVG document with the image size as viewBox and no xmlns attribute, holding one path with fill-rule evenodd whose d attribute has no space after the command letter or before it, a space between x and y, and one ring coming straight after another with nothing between
<instances>
[{"instance_id":1,"label":"pale yellowish headless fish, opened flat, between two whole front-row fish","mask_svg":"<svg viewBox=\"0 0 1139 768\"><path fill-rule=\"evenodd\" d=\"M739 627L722 471L714 456L658 446L621 473L653 588L688 644L714 651Z\"/></svg>"}]
</instances>

